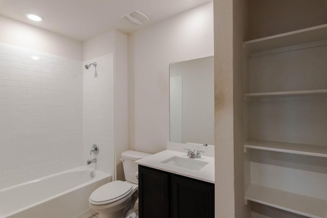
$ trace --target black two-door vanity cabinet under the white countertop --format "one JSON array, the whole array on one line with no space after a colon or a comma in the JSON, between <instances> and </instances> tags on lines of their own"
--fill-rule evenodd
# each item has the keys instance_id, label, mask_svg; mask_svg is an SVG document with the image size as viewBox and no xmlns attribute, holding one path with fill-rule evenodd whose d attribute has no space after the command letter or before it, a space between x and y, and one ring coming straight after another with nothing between
<instances>
[{"instance_id":1,"label":"black two-door vanity cabinet under the white countertop","mask_svg":"<svg viewBox=\"0 0 327 218\"><path fill-rule=\"evenodd\" d=\"M215 216L213 183L138 166L139 217Z\"/></svg>"}]
</instances>

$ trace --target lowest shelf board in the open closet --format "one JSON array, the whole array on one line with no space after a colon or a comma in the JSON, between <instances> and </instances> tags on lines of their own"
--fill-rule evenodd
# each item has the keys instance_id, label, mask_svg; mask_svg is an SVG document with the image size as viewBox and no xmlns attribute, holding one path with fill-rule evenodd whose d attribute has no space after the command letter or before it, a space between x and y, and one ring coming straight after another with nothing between
<instances>
[{"instance_id":1,"label":"lowest shelf board in the open closet","mask_svg":"<svg viewBox=\"0 0 327 218\"><path fill-rule=\"evenodd\" d=\"M250 184L245 194L245 202L247 200L309 217L327 217L326 200L267 186Z\"/></svg>"}]
</instances>

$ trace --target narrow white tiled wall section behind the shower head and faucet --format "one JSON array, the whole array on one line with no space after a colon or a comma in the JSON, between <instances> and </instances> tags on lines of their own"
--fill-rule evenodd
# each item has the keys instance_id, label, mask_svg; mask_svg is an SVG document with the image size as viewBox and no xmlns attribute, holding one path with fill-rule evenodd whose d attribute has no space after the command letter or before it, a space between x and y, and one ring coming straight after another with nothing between
<instances>
[{"instance_id":1,"label":"narrow white tiled wall section behind the shower head and faucet","mask_svg":"<svg viewBox=\"0 0 327 218\"><path fill-rule=\"evenodd\" d=\"M102 172L114 176L114 99L113 54L85 61L83 65L97 62L95 67L83 69L84 108L84 160L97 158L91 163ZM92 144L98 144L99 154L90 155Z\"/></svg>"}]
</instances>

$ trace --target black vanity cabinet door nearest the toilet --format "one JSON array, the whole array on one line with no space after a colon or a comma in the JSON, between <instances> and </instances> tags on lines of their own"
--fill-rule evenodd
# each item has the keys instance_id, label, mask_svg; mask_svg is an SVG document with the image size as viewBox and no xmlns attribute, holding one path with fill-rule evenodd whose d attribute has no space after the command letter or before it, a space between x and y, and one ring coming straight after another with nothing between
<instances>
[{"instance_id":1,"label":"black vanity cabinet door nearest the toilet","mask_svg":"<svg viewBox=\"0 0 327 218\"><path fill-rule=\"evenodd\" d=\"M169 218L169 174L138 166L140 218Z\"/></svg>"}]
</instances>

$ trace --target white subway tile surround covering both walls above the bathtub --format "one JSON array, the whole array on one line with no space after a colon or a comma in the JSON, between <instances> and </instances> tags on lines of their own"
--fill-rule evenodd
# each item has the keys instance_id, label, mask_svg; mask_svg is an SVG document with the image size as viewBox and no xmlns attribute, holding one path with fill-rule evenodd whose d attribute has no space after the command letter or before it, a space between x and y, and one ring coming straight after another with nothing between
<instances>
[{"instance_id":1,"label":"white subway tile surround covering both walls above the bathtub","mask_svg":"<svg viewBox=\"0 0 327 218\"><path fill-rule=\"evenodd\" d=\"M81 61L0 43L0 189L84 165L93 143L97 168L113 172L113 55L91 61L97 78Z\"/></svg>"}]
</instances>

